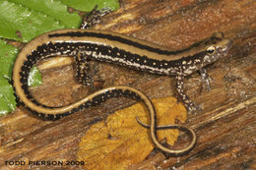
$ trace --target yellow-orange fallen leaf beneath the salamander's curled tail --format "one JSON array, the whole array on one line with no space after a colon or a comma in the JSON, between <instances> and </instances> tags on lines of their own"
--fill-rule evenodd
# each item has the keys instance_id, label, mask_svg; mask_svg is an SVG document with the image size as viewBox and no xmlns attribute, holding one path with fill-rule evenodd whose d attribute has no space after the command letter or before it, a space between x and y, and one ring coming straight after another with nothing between
<instances>
[{"instance_id":1,"label":"yellow-orange fallen leaf beneath the salamander's curled tail","mask_svg":"<svg viewBox=\"0 0 256 170\"><path fill-rule=\"evenodd\" d=\"M175 119L186 120L186 109L173 97L153 99L158 115L158 125L174 124ZM78 159L85 161L85 168L127 169L143 161L154 148L150 131L140 126L135 117L149 124L150 115L142 103L116 111L106 121L91 127L79 143ZM158 131L159 140L173 145L178 130Z\"/></svg>"}]
</instances>

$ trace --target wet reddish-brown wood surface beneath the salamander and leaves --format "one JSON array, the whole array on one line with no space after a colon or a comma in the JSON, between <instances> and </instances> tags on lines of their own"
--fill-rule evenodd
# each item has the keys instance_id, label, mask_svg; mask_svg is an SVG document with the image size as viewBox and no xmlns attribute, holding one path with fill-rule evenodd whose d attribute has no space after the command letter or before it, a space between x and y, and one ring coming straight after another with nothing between
<instances>
[{"instance_id":1,"label":"wet reddish-brown wood surface beneath the salamander and leaves","mask_svg":"<svg viewBox=\"0 0 256 170\"><path fill-rule=\"evenodd\" d=\"M228 55L206 68L215 80L212 90L202 88L197 73L185 80L187 94L201 107L200 111L189 114L186 122L196 131L196 147L181 157L154 151L130 169L256 169L255 9L253 0L123 0L117 12L107 15L96 26L172 50L185 48L215 31L223 31L233 40ZM43 85L32 87L31 91L43 104L66 105L96 90L76 83L72 59L42 61L38 67ZM133 86L150 98L175 96L173 78L94 61L92 68L94 80L100 85ZM17 169L5 165L5 161L11 160L75 160L80 139L92 124L133 103L126 98L110 99L54 122L40 120L18 107L0 118L0 169Z\"/></svg>"}]
</instances>

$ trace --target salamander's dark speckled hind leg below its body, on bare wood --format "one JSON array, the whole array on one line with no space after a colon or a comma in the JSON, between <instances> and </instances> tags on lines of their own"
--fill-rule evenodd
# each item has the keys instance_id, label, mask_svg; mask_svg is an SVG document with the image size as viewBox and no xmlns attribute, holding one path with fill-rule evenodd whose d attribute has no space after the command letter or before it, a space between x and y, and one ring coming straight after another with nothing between
<instances>
[{"instance_id":1,"label":"salamander's dark speckled hind leg below its body, on bare wood","mask_svg":"<svg viewBox=\"0 0 256 170\"><path fill-rule=\"evenodd\" d=\"M77 52L77 55L75 56L76 80L79 84L95 87L89 60L90 59L85 54L80 51Z\"/></svg>"}]
</instances>

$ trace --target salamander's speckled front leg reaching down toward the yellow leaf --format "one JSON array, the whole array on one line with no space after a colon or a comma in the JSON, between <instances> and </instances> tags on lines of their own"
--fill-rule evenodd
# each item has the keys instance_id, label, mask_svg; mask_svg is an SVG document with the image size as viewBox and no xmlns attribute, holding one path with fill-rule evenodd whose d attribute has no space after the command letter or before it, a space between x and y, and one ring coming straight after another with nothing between
<instances>
[{"instance_id":1,"label":"salamander's speckled front leg reaching down toward the yellow leaf","mask_svg":"<svg viewBox=\"0 0 256 170\"><path fill-rule=\"evenodd\" d=\"M199 110L199 108L192 101L190 101L189 97L184 92L184 76L177 75L175 78L177 93L181 102L183 102L183 104L185 105L186 109L191 112Z\"/></svg>"}]
</instances>

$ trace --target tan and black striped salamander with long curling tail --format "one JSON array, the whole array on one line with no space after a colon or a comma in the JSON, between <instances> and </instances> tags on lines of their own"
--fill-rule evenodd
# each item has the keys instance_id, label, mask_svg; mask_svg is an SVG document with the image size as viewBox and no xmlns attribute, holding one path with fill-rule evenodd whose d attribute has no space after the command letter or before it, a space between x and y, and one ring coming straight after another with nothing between
<instances>
[{"instance_id":1,"label":"tan and black striped salamander with long curling tail","mask_svg":"<svg viewBox=\"0 0 256 170\"><path fill-rule=\"evenodd\" d=\"M95 106L111 97L127 96L142 100L151 114L151 135L153 142L169 153L181 153L191 148L173 151L160 144L156 133L156 113L148 98L138 90L127 86L112 86L67 106L49 107L38 103L28 88L28 78L32 66L39 60L56 55L80 56L111 62L132 69L176 78L177 91L187 109L192 104L183 91L183 79L191 73L201 70L204 66L215 62L229 49L231 40L218 32L192 46L179 51L143 40L128 37L119 33L103 30L60 29L44 33L29 42L19 53L14 68L12 83L17 100L33 114L48 120L57 120L84 108ZM193 132L191 133L193 136Z\"/></svg>"}]
</instances>

